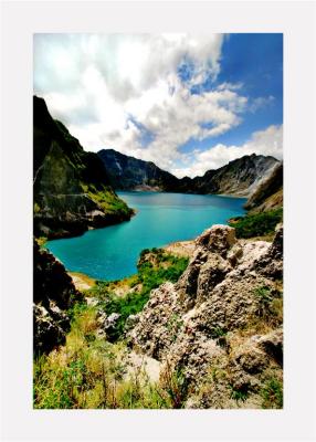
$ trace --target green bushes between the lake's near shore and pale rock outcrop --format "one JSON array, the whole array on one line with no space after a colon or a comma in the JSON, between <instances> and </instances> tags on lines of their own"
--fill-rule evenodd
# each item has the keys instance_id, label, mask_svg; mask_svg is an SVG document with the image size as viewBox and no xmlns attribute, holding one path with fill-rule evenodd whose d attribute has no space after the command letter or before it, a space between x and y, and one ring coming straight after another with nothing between
<instances>
[{"instance_id":1,"label":"green bushes between the lake's near shore and pale rock outcrop","mask_svg":"<svg viewBox=\"0 0 316 442\"><path fill-rule=\"evenodd\" d=\"M86 292L87 295L99 299L99 305L107 315L119 314L115 327L108 330L108 338L116 341L124 337L125 323L128 316L141 312L149 299L151 290L170 281L178 281L188 265L187 257L173 256L161 249L146 250L140 254L137 266L138 273L129 278L129 288L137 288L124 295L114 291L115 282L97 282Z\"/></svg>"}]
</instances>

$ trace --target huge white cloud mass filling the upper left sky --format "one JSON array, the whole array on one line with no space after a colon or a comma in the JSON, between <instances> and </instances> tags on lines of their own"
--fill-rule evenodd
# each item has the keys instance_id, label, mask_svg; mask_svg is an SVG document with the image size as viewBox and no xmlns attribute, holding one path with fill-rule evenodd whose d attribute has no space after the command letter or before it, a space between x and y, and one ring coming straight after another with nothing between
<instances>
[{"instance_id":1,"label":"huge white cloud mass filling the upper left sky","mask_svg":"<svg viewBox=\"0 0 316 442\"><path fill-rule=\"evenodd\" d=\"M183 144L231 130L246 109L255 112L271 99L249 103L242 83L202 87L206 81L215 84L223 39L180 33L35 34L34 93L86 150L110 147L179 175L175 165L182 161L186 167L191 159L197 161L188 170L192 175L202 170L200 157L181 154ZM199 94L192 94L197 85ZM224 147L211 150L230 158L234 147L230 155ZM210 157L210 165L220 162Z\"/></svg>"}]
</instances>

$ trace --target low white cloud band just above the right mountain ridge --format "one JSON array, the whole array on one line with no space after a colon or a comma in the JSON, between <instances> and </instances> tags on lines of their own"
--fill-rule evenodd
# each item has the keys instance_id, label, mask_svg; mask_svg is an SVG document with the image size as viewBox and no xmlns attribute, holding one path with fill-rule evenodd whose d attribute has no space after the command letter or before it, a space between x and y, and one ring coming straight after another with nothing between
<instances>
[{"instance_id":1,"label":"low white cloud band just above the right mountain ridge","mask_svg":"<svg viewBox=\"0 0 316 442\"><path fill-rule=\"evenodd\" d=\"M270 126L265 130L255 131L251 139L242 146L225 146L219 144L210 149L194 150L187 162L190 166L173 168L171 172L181 178L185 176L202 176L207 170L218 169L229 161L241 158L244 155L271 155L274 158L283 158L283 126Z\"/></svg>"}]
</instances>

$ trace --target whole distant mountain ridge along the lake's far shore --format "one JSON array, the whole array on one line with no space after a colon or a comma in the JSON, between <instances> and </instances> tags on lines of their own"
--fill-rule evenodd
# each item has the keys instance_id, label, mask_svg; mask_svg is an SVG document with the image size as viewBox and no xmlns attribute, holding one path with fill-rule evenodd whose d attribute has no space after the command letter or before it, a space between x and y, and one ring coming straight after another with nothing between
<instances>
[{"instance_id":1,"label":"whole distant mountain ridge along the lake's far shore","mask_svg":"<svg viewBox=\"0 0 316 442\"><path fill-rule=\"evenodd\" d=\"M249 197L259 182L278 164L273 157L247 155L202 177L177 178L154 162L128 157L113 149L97 154L112 186L120 190L157 190L186 193L222 193Z\"/></svg>"}]
</instances>

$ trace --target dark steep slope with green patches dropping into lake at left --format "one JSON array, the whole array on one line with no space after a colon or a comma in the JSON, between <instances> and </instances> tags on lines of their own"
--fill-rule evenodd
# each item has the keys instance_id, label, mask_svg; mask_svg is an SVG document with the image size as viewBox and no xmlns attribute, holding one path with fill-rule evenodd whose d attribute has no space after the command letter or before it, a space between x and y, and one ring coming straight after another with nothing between
<instances>
[{"instance_id":1,"label":"dark steep slope with green patches dropping into lake at left","mask_svg":"<svg viewBox=\"0 0 316 442\"><path fill-rule=\"evenodd\" d=\"M83 150L45 102L33 98L34 234L48 238L128 220L133 211L109 186L93 152Z\"/></svg>"}]
</instances>

